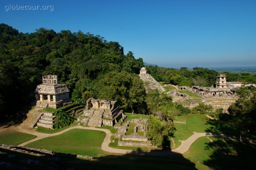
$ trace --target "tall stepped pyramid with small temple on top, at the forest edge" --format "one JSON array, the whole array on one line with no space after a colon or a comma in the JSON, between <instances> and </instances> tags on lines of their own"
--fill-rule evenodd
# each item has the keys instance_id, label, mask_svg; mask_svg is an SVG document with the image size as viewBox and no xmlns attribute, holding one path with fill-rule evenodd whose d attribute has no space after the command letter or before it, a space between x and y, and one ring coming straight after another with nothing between
<instances>
[{"instance_id":1,"label":"tall stepped pyramid with small temple on top, at the forest edge","mask_svg":"<svg viewBox=\"0 0 256 170\"><path fill-rule=\"evenodd\" d=\"M151 77L147 69L145 67L142 67L140 69L140 79L144 83L144 87L146 89L146 92L149 92L152 89L158 89L160 92L164 92L164 88L153 78Z\"/></svg>"}]
</instances>

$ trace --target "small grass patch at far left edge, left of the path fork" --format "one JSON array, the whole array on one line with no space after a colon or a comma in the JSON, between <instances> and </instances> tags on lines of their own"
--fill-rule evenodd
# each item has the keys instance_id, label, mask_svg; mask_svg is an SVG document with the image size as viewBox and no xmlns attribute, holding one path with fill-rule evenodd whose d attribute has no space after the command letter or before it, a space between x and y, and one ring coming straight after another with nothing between
<instances>
[{"instance_id":1,"label":"small grass patch at far left edge, left of the path fork","mask_svg":"<svg viewBox=\"0 0 256 170\"><path fill-rule=\"evenodd\" d=\"M36 138L35 135L17 131L3 132L0 133L0 144L18 145L34 138Z\"/></svg>"}]
</instances>

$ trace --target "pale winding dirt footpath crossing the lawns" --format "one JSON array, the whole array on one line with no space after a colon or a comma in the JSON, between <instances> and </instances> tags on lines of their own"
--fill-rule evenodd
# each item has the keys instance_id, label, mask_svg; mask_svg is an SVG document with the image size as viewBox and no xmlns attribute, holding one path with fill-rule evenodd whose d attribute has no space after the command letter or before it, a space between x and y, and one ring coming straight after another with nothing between
<instances>
[{"instance_id":1,"label":"pale winding dirt footpath crossing the lawns","mask_svg":"<svg viewBox=\"0 0 256 170\"><path fill-rule=\"evenodd\" d=\"M110 137L115 134L112 133L108 129L100 129L100 128L95 128L95 127L84 127L84 126L74 126L74 127L64 129L57 133L53 133L53 134L47 134L47 133L32 131L29 129L23 129L22 126L9 127L6 129L12 129L12 130L16 130L19 132L28 133L28 134L37 136L36 138L26 141L22 144L19 144L18 146L24 146L26 144L29 144L29 143L34 142L39 139L43 139L45 137L52 137L52 136L60 135L60 134L65 133L71 129L99 130L99 131L103 131L106 133L106 136L101 144L101 149L110 154L112 153L112 154L121 154L121 155L132 154L132 155L151 155L151 156L164 156L164 155L172 156L172 155L183 154L183 153L187 152L189 147L191 146L191 144L194 143L196 141L196 139L198 139L199 137L216 136L216 137L234 138L233 136L218 134L218 133L195 133L191 137L189 137L187 140L181 141L181 145L178 148L175 148L172 150L166 149L166 150L151 150L151 151L134 151L134 150L125 150L125 149L115 149L115 148L109 147L108 144L111 142Z\"/></svg>"}]
</instances>

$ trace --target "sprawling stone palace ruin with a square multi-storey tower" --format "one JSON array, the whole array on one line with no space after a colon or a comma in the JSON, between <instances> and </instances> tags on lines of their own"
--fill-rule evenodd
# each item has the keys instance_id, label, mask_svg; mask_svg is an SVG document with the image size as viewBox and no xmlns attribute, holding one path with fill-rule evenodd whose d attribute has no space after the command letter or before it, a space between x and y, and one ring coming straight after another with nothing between
<instances>
[{"instance_id":1,"label":"sprawling stone palace ruin with a square multi-storey tower","mask_svg":"<svg viewBox=\"0 0 256 170\"><path fill-rule=\"evenodd\" d=\"M216 84L212 87L180 86L179 90L185 90L196 94L201 99L188 99L189 95L175 90L169 92L173 97L173 102L182 104L183 107L193 108L200 102L211 104L214 109L221 107L224 112L228 112L228 107L236 102L236 90L240 88L242 82L227 82L225 74L219 74Z\"/></svg>"}]
</instances>

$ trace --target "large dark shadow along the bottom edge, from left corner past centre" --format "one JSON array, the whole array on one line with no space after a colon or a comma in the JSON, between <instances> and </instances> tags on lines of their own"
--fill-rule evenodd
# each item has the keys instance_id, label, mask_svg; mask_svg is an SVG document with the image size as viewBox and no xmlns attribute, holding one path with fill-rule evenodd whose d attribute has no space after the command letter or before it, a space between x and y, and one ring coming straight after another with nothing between
<instances>
[{"instance_id":1,"label":"large dark shadow along the bottom edge, from left corner past centre","mask_svg":"<svg viewBox=\"0 0 256 170\"><path fill-rule=\"evenodd\" d=\"M189 159L185 159L181 154L173 154L170 149L164 149L164 151L162 151L167 154L166 156L160 156L161 151L143 152L140 149L138 149L137 151L133 151L129 155L106 155L98 158L93 158L92 160L79 159L76 155L73 154L52 154L52 152L49 152L44 153L44 156L32 156L25 153L17 153L4 149L0 149L0 151L12 154L11 157L10 155L0 155L2 162L7 162L11 164L10 168L196 169L195 163L191 162ZM152 153L158 153L159 155L150 156ZM38 168L36 166L38 166Z\"/></svg>"}]
</instances>

